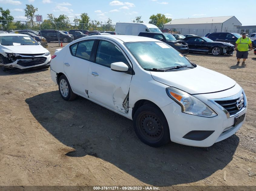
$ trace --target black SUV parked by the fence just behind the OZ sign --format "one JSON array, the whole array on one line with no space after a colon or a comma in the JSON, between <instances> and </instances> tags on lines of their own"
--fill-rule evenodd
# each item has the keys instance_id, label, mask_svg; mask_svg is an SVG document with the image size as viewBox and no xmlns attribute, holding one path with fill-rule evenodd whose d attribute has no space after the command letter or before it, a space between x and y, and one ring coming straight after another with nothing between
<instances>
[{"instance_id":1,"label":"black SUV parked by the fence just behind the OZ sign","mask_svg":"<svg viewBox=\"0 0 256 191\"><path fill-rule=\"evenodd\" d=\"M65 34L61 30L40 30L38 36L42 34L42 37L45 37L47 42L58 41L68 43L74 40L74 37L70 34Z\"/></svg>"}]
</instances>

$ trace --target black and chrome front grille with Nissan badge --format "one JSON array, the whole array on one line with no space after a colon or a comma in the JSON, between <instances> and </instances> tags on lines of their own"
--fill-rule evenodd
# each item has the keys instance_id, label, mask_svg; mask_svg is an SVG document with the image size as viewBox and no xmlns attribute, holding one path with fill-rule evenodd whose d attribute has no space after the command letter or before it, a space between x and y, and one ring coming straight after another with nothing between
<instances>
[{"instance_id":1,"label":"black and chrome front grille with Nissan badge","mask_svg":"<svg viewBox=\"0 0 256 191\"><path fill-rule=\"evenodd\" d=\"M215 102L224 107L225 110L228 111L229 115L234 115L244 107L244 95L241 94L239 98L234 100L221 100Z\"/></svg>"}]
</instances>

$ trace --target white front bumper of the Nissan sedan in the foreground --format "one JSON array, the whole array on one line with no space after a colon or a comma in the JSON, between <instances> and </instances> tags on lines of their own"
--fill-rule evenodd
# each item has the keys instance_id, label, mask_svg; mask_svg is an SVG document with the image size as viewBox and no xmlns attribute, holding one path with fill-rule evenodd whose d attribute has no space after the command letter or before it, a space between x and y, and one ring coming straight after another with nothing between
<instances>
[{"instance_id":1,"label":"white front bumper of the Nissan sedan in the foreground","mask_svg":"<svg viewBox=\"0 0 256 191\"><path fill-rule=\"evenodd\" d=\"M246 97L245 102L247 103ZM200 117L182 113L181 107L176 102L161 108L168 121L170 138L172 142L196 147L209 147L215 142L219 142L230 137L243 125L246 118L247 107L244 107L241 112L238 112L238 114L228 118L219 107L210 101L205 103L207 103L207 105L211 107L218 115L215 117ZM233 126L234 118L244 114L244 120L236 126ZM197 131L200 133L209 131L211 133L208 133L206 138L203 140L200 138L198 140L191 140L185 136L191 131Z\"/></svg>"}]
</instances>

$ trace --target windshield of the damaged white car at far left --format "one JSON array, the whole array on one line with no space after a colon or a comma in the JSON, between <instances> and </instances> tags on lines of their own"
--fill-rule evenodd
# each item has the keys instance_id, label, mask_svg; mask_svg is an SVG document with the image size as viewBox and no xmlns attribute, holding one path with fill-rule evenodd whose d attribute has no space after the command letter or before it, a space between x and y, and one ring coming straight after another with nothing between
<instances>
[{"instance_id":1,"label":"windshield of the damaged white car at far left","mask_svg":"<svg viewBox=\"0 0 256 191\"><path fill-rule=\"evenodd\" d=\"M1 36L0 43L3 46L38 45L34 39L25 36Z\"/></svg>"}]
</instances>

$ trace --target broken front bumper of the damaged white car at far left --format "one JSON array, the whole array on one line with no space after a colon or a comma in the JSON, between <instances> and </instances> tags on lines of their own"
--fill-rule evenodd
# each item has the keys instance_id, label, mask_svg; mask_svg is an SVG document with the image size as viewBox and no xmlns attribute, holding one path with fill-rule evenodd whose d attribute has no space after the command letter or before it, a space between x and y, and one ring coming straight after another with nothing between
<instances>
[{"instance_id":1,"label":"broken front bumper of the damaged white car at far left","mask_svg":"<svg viewBox=\"0 0 256 191\"><path fill-rule=\"evenodd\" d=\"M47 67L51 62L51 55L18 55L19 56L12 58L8 58L7 55L5 55L5 62L4 64L0 64L0 66L10 69L27 69L41 66Z\"/></svg>"}]
</instances>

